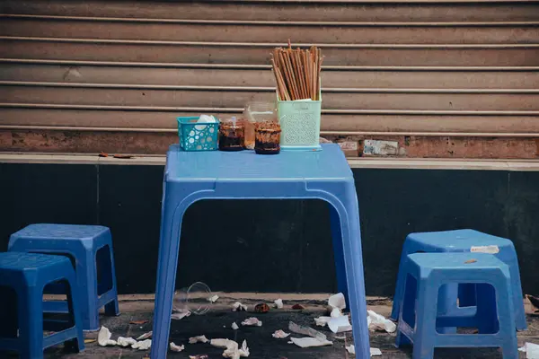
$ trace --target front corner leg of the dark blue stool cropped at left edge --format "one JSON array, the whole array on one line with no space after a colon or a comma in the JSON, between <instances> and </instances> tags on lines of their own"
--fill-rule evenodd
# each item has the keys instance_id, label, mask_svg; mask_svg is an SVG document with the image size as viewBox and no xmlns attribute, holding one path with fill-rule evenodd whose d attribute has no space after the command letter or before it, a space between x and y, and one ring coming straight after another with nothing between
<instances>
[{"instance_id":1,"label":"front corner leg of the dark blue stool cropped at left edge","mask_svg":"<svg viewBox=\"0 0 539 359\"><path fill-rule=\"evenodd\" d=\"M22 294L19 311L20 337L28 338L28 343L21 346L21 359L43 357L43 287L32 285Z\"/></svg>"}]
</instances>

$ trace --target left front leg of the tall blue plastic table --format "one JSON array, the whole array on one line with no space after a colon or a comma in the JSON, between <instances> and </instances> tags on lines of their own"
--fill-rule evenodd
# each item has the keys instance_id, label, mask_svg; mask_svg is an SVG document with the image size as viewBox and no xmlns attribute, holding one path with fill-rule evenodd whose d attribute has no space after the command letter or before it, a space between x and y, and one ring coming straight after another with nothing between
<instances>
[{"instance_id":1,"label":"left front leg of the tall blue plastic table","mask_svg":"<svg viewBox=\"0 0 539 359\"><path fill-rule=\"evenodd\" d=\"M159 240L159 261L157 263L157 284L155 288L154 335L150 356L152 359L165 358L171 329L172 301L178 268L180 250L181 221L187 206L178 206L174 201L163 208L161 238Z\"/></svg>"}]
</instances>

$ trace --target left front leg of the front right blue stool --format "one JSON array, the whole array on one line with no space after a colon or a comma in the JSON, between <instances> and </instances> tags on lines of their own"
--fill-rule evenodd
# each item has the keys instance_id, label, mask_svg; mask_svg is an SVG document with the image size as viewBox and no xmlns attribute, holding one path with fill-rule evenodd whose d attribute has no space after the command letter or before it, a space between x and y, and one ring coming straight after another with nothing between
<instances>
[{"instance_id":1,"label":"left front leg of the front right blue stool","mask_svg":"<svg viewBox=\"0 0 539 359\"><path fill-rule=\"evenodd\" d=\"M429 279L421 275L418 281L416 329L413 340L413 359L434 356L436 342L437 286L429 285Z\"/></svg>"}]
</instances>

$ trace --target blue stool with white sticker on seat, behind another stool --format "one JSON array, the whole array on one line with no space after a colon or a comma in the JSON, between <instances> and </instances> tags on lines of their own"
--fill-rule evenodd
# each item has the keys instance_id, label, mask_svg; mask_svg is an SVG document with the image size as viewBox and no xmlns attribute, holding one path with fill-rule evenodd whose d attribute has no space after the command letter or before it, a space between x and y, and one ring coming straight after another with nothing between
<instances>
[{"instance_id":1,"label":"blue stool with white sticker on seat, behind another stool","mask_svg":"<svg viewBox=\"0 0 539 359\"><path fill-rule=\"evenodd\" d=\"M404 290L404 273L402 263L411 253L416 252L468 252L472 247L497 246L499 253L493 254L509 267L512 278L513 311L515 312L515 323L517 330L526 329L526 314L520 285L520 274L518 270L517 252L513 242L505 238L496 237L490 234L473 230L457 230L446 232L422 232L411 233L404 241L401 255L401 265L397 277L395 296L393 299L393 311L391 318L396 320L399 315L399 305L402 302ZM458 297L459 307L467 307L468 315L475 312L475 285L445 285L444 295L438 299L438 311L450 314L455 311ZM490 298L490 303L495 302L495 298ZM446 329L451 330L451 329ZM455 331L455 330L453 330Z\"/></svg>"}]
</instances>

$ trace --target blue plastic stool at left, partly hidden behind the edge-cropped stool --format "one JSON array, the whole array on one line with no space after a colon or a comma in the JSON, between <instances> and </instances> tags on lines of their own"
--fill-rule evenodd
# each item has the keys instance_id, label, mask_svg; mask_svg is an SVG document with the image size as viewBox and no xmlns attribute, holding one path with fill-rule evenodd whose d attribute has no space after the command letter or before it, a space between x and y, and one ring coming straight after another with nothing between
<instances>
[{"instance_id":1,"label":"blue plastic stool at left, partly hidden behind the edge-cropped stool","mask_svg":"<svg viewBox=\"0 0 539 359\"><path fill-rule=\"evenodd\" d=\"M119 315L109 228L101 225L31 224L12 234L8 250L61 254L75 261L84 330L100 328L99 310L103 306L106 315ZM55 287L52 293L61 290ZM46 311L67 311L65 302L50 301L43 305Z\"/></svg>"}]
</instances>

